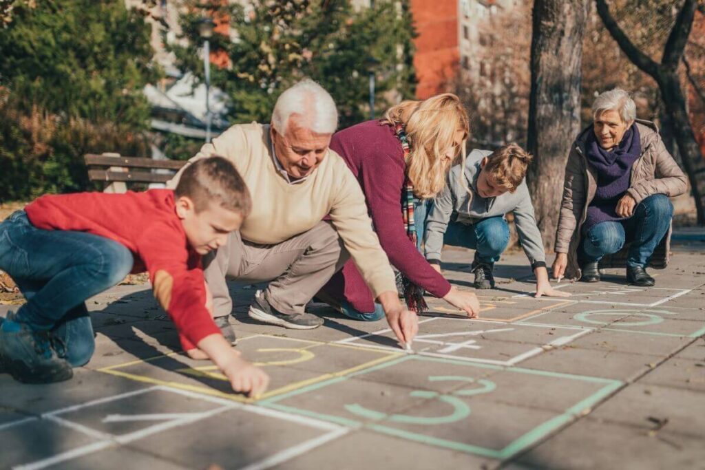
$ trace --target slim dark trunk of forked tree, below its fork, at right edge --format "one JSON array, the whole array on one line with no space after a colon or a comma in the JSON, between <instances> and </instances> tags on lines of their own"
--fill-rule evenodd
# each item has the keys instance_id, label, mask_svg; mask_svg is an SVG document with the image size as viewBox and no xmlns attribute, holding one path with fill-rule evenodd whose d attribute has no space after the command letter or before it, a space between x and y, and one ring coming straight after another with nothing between
<instances>
[{"instance_id":1,"label":"slim dark trunk of forked tree, below its fork, at right edge","mask_svg":"<svg viewBox=\"0 0 705 470\"><path fill-rule=\"evenodd\" d=\"M685 96L676 73L662 73L656 79L661 89L661 97L671 123L673 137L678 144L680 159L688 175L695 199L698 225L705 225L705 159L700 154L700 146L693 133L690 119L685 109Z\"/></svg>"}]
</instances>

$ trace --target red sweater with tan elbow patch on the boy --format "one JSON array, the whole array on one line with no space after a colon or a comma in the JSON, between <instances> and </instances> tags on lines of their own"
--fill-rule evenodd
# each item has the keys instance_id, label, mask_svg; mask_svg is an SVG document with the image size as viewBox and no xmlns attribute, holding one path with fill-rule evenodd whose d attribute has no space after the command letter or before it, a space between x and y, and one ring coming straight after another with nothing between
<instances>
[{"instance_id":1,"label":"red sweater with tan elbow patch on the boy","mask_svg":"<svg viewBox=\"0 0 705 470\"><path fill-rule=\"evenodd\" d=\"M173 284L155 289L155 295L176 323L184 349L221 333L205 307L201 257L188 244L176 215L173 191L44 196L25 211L36 228L87 232L124 245L135 259L132 272L149 271L152 285L158 271L171 276Z\"/></svg>"}]
</instances>

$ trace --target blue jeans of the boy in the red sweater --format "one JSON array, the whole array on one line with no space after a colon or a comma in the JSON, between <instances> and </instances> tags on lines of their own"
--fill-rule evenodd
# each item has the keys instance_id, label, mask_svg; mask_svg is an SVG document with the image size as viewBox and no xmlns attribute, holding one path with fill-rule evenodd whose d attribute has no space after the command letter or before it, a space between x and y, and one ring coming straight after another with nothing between
<instances>
[{"instance_id":1,"label":"blue jeans of the boy in the red sweater","mask_svg":"<svg viewBox=\"0 0 705 470\"><path fill-rule=\"evenodd\" d=\"M105 237L40 230L25 211L0 224L0 269L27 299L16 320L61 338L72 366L86 364L95 349L85 299L119 283L132 267L130 250Z\"/></svg>"}]
</instances>

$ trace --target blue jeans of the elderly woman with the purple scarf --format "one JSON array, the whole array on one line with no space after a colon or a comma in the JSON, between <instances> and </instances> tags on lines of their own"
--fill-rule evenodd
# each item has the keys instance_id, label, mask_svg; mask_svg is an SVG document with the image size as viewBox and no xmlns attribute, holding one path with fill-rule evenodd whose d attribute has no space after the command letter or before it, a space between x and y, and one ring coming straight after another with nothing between
<instances>
[{"instance_id":1,"label":"blue jeans of the elderly woman with the purple scarf","mask_svg":"<svg viewBox=\"0 0 705 470\"><path fill-rule=\"evenodd\" d=\"M627 266L646 267L654 249L668 232L671 218L673 204L668 197L653 194L637 205L632 217L593 225L580 243L580 259L583 262L599 261L606 254L618 252L626 241L630 241Z\"/></svg>"}]
</instances>

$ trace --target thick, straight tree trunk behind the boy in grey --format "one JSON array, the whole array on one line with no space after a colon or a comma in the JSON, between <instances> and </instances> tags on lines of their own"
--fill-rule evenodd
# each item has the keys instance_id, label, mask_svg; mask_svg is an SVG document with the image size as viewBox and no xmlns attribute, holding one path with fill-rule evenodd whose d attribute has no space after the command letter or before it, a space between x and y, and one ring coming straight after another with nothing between
<instances>
[{"instance_id":1,"label":"thick, straight tree trunk behind the boy in grey","mask_svg":"<svg viewBox=\"0 0 705 470\"><path fill-rule=\"evenodd\" d=\"M553 247L570 146L580 132L580 64L589 0L536 0L527 184L544 246Z\"/></svg>"}]
</instances>

